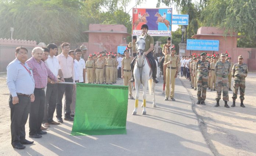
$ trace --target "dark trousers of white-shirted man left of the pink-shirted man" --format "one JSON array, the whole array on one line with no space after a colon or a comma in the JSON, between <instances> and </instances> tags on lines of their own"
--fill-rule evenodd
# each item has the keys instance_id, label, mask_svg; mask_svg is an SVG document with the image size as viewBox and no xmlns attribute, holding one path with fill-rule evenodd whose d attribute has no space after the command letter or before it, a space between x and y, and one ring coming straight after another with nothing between
<instances>
[{"instance_id":1,"label":"dark trousers of white-shirted man left of the pink-shirted man","mask_svg":"<svg viewBox=\"0 0 256 156\"><path fill-rule=\"evenodd\" d=\"M43 116L43 123L51 123L53 122L53 114L56 108L57 101L57 84L52 85L51 83L47 83L47 89L45 94L45 111L46 114Z\"/></svg>"}]
</instances>

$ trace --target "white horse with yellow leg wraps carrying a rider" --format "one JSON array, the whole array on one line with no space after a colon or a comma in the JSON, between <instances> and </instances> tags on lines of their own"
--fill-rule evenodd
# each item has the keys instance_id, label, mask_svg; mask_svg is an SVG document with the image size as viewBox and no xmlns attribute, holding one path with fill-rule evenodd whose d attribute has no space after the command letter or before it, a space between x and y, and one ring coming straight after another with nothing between
<instances>
[{"instance_id":1,"label":"white horse with yellow leg wraps carrying a rider","mask_svg":"<svg viewBox=\"0 0 256 156\"><path fill-rule=\"evenodd\" d=\"M137 37L136 41L136 50L137 50L137 59L136 63L134 66L134 79L135 79L135 89L136 89L136 96L135 96L135 108L134 111L132 112L132 115L136 115L137 113L137 108L138 108L138 103L139 103L139 87L142 84L143 86L143 111L142 114L146 115L146 90L147 90L147 85L149 86L149 93L153 91L153 107L156 107L156 99L155 99L155 86L156 83L153 82L152 79L152 73L150 73L150 66L147 63L147 60L144 55L144 49L145 49L145 38L146 34L144 36L139 36ZM152 60L156 61L156 60ZM157 61L156 61L157 65Z\"/></svg>"}]
</instances>

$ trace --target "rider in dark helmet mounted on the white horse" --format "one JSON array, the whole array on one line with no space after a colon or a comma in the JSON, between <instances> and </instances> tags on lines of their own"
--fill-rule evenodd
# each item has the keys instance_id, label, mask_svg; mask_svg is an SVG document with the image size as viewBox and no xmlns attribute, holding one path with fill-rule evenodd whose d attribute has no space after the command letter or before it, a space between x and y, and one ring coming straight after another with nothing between
<instances>
[{"instance_id":1,"label":"rider in dark helmet mounted on the white horse","mask_svg":"<svg viewBox=\"0 0 256 156\"><path fill-rule=\"evenodd\" d=\"M153 56L153 49L154 49L154 38L152 36L150 36L149 34L147 34L147 30L149 29L149 27L146 24L143 24L141 26L141 30L142 30L142 36L144 36L146 34L146 38L145 38L145 49L144 49L144 54L150 58L153 62L153 67L152 67L152 78L153 81L155 83L158 83L159 81L157 80L156 74L157 74L157 66L156 66L156 60L154 59ZM130 82L134 82L134 75L133 75L133 70L134 70L134 62L136 60L136 57L134 58L134 60L132 60L131 63L131 70L132 70L132 79L130 80Z\"/></svg>"}]
</instances>

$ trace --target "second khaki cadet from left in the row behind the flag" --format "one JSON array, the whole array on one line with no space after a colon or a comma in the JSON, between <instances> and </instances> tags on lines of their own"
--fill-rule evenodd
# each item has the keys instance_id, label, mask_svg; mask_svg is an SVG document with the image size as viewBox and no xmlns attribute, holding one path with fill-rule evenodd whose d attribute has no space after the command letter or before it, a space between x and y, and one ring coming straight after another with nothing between
<instances>
[{"instance_id":1,"label":"second khaki cadet from left in the row behind the flag","mask_svg":"<svg viewBox=\"0 0 256 156\"><path fill-rule=\"evenodd\" d=\"M95 63L95 67L96 67L96 83L98 84L100 82L100 84L103 84L103 75L104 75L104 61L102 60L102 55L100 54L98 56L98 60Z\"/></svg>"}]
</instances>

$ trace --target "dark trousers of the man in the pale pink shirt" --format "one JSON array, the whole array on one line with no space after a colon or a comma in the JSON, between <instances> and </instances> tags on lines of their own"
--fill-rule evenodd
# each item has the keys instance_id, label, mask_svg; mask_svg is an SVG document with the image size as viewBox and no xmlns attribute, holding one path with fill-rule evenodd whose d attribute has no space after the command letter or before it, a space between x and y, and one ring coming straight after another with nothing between
<instances>
[{"instance_id":1,"label":"dark trousers of the man in the pale pink shirt","mask_svg":"<svg viewBox=\"0 0 256 156\"><path fill-rule=\"evenodd\" d=\"M72 78L64 78L65 82L73 82ZM70 84L58 84L58 93L57 93L57 104L56 104L56 113L57 118L62 117L62 99L65 93L65 115L70 115L71 109L70 105L72 103L72 92L73 92L73 85Z\"/></svg>"}]
</instances>

